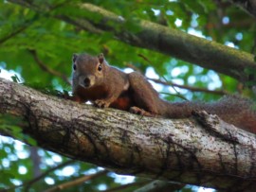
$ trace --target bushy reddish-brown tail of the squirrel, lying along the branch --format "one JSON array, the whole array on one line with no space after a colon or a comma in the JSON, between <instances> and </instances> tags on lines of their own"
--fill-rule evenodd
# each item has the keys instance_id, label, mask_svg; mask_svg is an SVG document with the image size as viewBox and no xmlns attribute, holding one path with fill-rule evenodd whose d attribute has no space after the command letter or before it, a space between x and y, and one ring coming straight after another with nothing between
<instances>
[{"instance_id":1,"label":"bushy reddish-brown tail of the squirrel, lying along the branch","mask_svg":"<svg viewBox=\"0 0 256 192\"><path fill-rule=\"evenodd\" d=\"M253 101L240 96L224 96L212 103L163 101L162 115L168 118L186 118L193 110L217 114L224 121L246 131L256 133L256 105Z\"/></svg>"}]
</instances>

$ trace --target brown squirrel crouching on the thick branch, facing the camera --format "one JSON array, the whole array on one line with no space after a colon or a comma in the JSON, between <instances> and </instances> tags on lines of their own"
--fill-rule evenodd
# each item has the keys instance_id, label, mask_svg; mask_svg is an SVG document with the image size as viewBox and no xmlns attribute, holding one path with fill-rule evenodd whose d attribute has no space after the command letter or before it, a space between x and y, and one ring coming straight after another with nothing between
<instances>
[{"instance_id":1,"label":"brown squirrel crouching on the thick branch, facing the camera","mask_svg":"<svg viewBox=\"0 0 256 192\"><path fill-rule=\"evenodd\" d=\"M168 118L192 116L192 111L217 114L224 121L256 133L256 113L252 101L239 96L224 96L214 103L176 102L161 99L153 86L138 72L125 74L110 66L103 54L73 55L72 89L76 101L91 101L96 106L111 107L147 116Z\"/></svg>"}]
</instances>

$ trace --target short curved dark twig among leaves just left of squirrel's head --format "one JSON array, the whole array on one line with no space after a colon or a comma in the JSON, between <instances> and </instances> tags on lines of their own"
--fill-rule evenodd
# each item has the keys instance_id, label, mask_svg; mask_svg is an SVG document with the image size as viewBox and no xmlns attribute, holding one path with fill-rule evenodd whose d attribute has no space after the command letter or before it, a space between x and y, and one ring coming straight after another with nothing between
<instances>
[{"instance_id":1,"label":"short curved dark twig among leaves just left of squirrel's head","mask_svg":"<svg viewBox=\"0 0 256 192\"><path fill-rule=\"evenodd\" d=\"M53 75L53 76L57 76L60 77L61 79L63 79L66 83L68 83L69 85L71 84L70 80L62 73L55 71L49 67L46 66L46 64L41 61L37 55L36 50L28 50L29 53L32 55L32 57L34 58L34 60L36 61L36 63L40 66L40 68L44 71L46 71L47 73Z\"/></svg>"}]
</instances>

